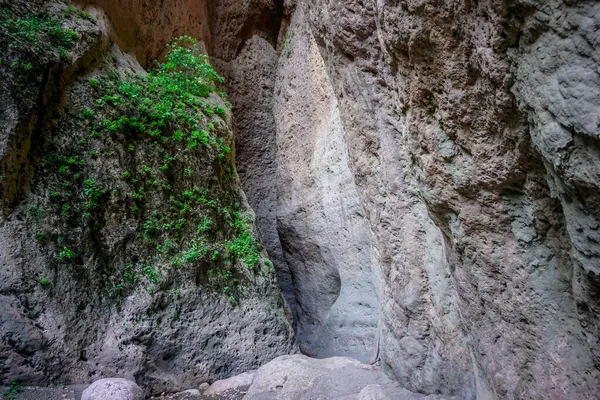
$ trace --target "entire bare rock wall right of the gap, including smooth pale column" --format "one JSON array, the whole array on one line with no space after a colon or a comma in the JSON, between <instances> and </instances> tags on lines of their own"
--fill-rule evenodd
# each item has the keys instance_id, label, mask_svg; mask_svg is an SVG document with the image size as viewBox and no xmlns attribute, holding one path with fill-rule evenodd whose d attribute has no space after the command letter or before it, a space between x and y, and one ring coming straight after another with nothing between
<instances>
[{"instance_id":1,"label":"entire bare rock wall right of the gap, including smooth pale column","mask_svg":"<svg viewBox=\"0 0 600 400\"><path fill-rule=\"evenodd\" d=\"M596 396L599 9L297 2L274 115L306 352L379 343L424 393Z\"/></svg>"}]
</instances>

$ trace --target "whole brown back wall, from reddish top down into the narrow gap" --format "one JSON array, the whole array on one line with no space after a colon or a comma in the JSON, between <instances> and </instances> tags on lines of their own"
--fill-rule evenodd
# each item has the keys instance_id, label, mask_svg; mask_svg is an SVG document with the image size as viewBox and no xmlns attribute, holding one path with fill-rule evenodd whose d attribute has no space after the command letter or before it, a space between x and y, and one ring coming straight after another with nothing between
<instances>
[{"instance_id":1,"label":"whole brown back wall, from reddish top down into the narrow gap","mask_svg":"<svg viewBox=\"0 0 600 400\"><path fill-rule=\"evenodd\" d=\"M276 227L276 139L273 87L284 13L281 1L96 0L115 27L121 48L133 52L142 65L160 56L176 35L203 41L225 78L237 122L237 166L248 201L256 211L265 248L274 263L283 294L295 311L289 268ZM285 14L289 15L289 6ZM283 33L283 31L281 31ZM296 317L294 312L293 317Z\"/></svg>"}]
</instances>

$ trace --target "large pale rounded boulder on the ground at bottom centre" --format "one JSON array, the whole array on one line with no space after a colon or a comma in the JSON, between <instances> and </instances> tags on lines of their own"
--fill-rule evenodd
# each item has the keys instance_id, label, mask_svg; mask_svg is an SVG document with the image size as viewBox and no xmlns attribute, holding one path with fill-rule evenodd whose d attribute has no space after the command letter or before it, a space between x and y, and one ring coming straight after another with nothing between
<instances>
[{"instance_id":1,"label":"large pale rounded boulder on the ground at bottom centre","mask_svg":"<svg viewBox=\"0 0 600 400\"><path fill-rule=\"evenodd\" d=\"M378 369L345 358L282 356L261 367L247 400L417 400L456 399L425 396L401 389Z\"/></svg>"}]
</instances>

